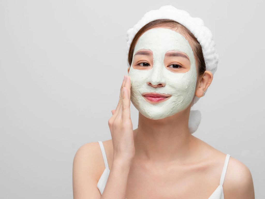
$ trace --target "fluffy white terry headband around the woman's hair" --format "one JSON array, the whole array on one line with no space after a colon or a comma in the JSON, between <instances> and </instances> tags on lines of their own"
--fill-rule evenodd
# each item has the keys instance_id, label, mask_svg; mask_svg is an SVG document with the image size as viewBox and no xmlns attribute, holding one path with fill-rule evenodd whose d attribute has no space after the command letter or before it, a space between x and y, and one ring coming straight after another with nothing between
<instances>
[{"instance_id":1,"label":"fluffy white terry headband around the woman's hair","mask_svg":"<svg viewBox=\"0 0 265 199\"><path fill-rule=\"evenodd\" d=\"M219 61L219 55L215 49L215 42L213 35L209 28L204 26L204 22L201 18L191 17L185 10L179 10L171 5L161 6L158 10L151 10L144 14L133 28L127 30L127 57L131 42L135 34L147 23L156 19L172 19L178 23L184 25L191 33L197 38L202 47L202 53L205 60L206 70L215 73L217 70L217 64ZM130 64L127 62L128 67ZM208 88L207 88L208 89ZM205 90L205 93L207 91ZM192 106L200 98L195 96ZM199 110L191 110L189 115L189 131L194 133L201 122L201 112Z\"/></svg>"}]
</instances>

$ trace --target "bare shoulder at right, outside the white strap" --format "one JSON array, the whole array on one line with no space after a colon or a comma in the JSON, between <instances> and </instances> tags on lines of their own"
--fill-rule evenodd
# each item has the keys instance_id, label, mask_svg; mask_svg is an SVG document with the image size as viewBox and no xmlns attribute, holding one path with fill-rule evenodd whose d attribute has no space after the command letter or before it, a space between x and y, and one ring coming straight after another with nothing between
<instances>
[{"instance_id":1,"label":"bare shoulder at right, outside the white strap","mask_svg":"<svg viewBox=\"0 0 265 199\"><path fill-rule=\"evenodd\" d=\"M254 185L249 168L232 156L223 184L224 198L254 199Z\"/></svg>"}]
</instances>

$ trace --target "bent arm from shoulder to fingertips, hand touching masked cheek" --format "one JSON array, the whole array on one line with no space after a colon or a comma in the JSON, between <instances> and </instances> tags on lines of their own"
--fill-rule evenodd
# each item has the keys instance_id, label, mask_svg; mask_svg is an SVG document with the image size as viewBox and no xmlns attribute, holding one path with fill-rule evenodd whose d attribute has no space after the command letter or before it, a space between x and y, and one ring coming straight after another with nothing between
<instances>
[{"instance_id":1,"label":"bent arm from shoulder to fingertips, hand touching masked cheek","mask_svg":"<svg viewBox=\"0 0 265 199\"><path fill-rule=\"evenodd\" d=\"M131 160L135 154L133 124L130 118L130 77L124 77L116 110L108 124L113 143L113 163L103 195L97 188L95 161L101 155L96 153L98 143L83 145L74 157L73 194L74 199L124 199ZM95 146L97 144L97 146ZM99 149L99 148L98 148Z\"/></svg>"}]
</instances>

